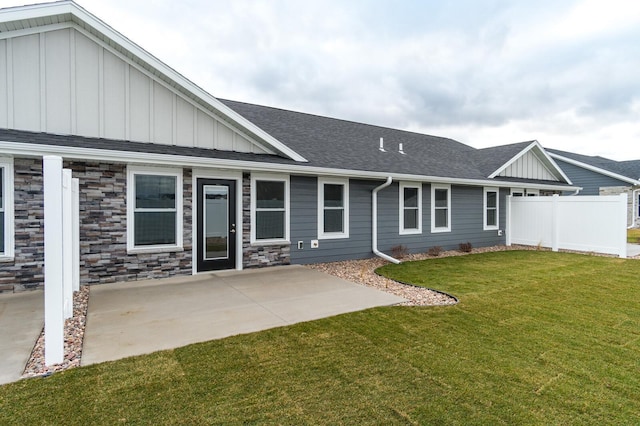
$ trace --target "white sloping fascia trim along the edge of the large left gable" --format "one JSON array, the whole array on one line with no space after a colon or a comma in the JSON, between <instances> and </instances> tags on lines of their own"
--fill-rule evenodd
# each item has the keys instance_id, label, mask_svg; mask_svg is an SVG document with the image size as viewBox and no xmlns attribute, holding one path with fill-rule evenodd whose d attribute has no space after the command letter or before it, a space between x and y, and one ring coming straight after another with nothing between
<instances>
[{"instance_id":1,"label":"white sloping fascia trim along the edge of the large left gable","mask_svg":"<svg viewBox=\"0 0 640 426\"><path fill-rule=\"evenodd\" d=\"M188 92L194 94L197 98L201 99L205 103L209 104L214 110L218 111L222 116L227 117L232 123L247 129L250 133L256 135L258 139L263 140L268 146L272 147L276 152L285 155L286 157L299 162L307 162L302 155L298 154L276 138L233 111L228 106L217 100L215 97L201 89L196 84L182 76L179 72L160 61L158 58L111 28L108 24L87 12L81 6L72 1L65 1L60 3L45 3L40 5L26 6L6 9L0 13L0 21L16 21L16 20L28 20L37 19L52 15L70 14L75 20L82 22L83 24L93 28L97 32L103 34L110 39L113 43L122 46L134 57L139 58L142 62L146 62L149 66L173 80L178 86L181 86Z\"/></svg>"}]
</instances>

